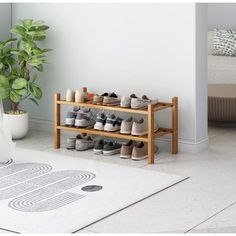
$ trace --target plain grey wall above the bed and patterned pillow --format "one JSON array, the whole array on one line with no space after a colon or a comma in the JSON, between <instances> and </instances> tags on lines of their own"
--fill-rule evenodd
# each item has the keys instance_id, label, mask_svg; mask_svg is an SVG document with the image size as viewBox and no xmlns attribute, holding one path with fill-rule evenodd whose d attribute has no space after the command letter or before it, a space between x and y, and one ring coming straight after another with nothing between
<instances>
[{"instance_id":1,"label":"plain grey wall above the bed and patterned pillow","mask_svg":"<svg viewBox=\"0 0 236 236\"><path fill-rule=\"evenodd\" d=\"M208 3L208 28L236 30L236 3Z\"/></svg>"}]
</instances>

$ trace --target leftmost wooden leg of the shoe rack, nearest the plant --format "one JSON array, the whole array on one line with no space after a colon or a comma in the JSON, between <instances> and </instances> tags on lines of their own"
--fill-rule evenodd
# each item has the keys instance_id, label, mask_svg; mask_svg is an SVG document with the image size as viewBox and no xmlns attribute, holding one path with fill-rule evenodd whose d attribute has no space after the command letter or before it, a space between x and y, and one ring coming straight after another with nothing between
<instances>
[{"instance_id":1,"label":"leftmost wooden leg of the shoe rack, nearest the plant","mask_svg":"<svg viewBox=\"0 0 236 236\"><path fill-rule=\"evenodd\" d=\"M54 97L54 148L61 147L61 130L57 126L61 125L61 105L57 101L61 99L60 93L56 93Z\"/></svg>"}]
</instances>

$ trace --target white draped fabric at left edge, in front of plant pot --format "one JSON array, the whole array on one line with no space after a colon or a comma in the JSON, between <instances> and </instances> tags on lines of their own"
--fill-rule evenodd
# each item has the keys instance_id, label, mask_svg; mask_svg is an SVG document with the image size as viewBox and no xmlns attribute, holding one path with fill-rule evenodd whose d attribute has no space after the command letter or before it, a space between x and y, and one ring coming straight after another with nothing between
<instances>
[{"instance_id":1,"label":"white draped fabric at left edge, in front of plant pot","mask_svg":"<svg viewBox=\"0 0 236 236\"><path fill-rule=\"evenodd\" d=\"M0 100L0 163L8 163L14 156L14 150L11 134L3 125L3 105Z\"/></svg>"}]
</instances>

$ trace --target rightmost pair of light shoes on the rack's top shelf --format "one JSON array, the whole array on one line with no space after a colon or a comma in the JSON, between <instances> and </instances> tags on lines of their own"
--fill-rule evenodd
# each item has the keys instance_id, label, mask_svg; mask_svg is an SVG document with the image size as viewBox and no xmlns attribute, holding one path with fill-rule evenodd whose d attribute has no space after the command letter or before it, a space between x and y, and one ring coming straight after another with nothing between
<instances>
[{"instance_id":1,"label":"rightmost pair of light shoes on the rack's top shelf","mask_svg":"<svg viewBox=\"0 0 236 236\"><path fill-rule=\"evenodd\" d=\"M120 106L121 107L131 107L133 109L145 108L149 104L157 104L158 100L150 100L146 95L143 95L142 98L138 98L135 94L130 95L130 97L123 96L121 98Z\"/></svg>"}]
</instances>

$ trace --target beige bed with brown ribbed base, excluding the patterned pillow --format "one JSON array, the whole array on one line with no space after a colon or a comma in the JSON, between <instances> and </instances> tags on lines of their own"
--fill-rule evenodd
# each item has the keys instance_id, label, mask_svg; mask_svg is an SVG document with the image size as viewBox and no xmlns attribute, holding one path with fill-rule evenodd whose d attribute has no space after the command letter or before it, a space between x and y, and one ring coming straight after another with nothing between
<instances>
[{"instance_id":1,"label":"beige bed with brown ribbed base, excluding the patterned pillow","mask_svg":"<svg viewBox=\"0 0 236 236\"><path fill-rule=\"evenodd\" d=\"M208 120L236 122L236 57L212 55L208 32Z\"/></svg>"}]
</instances>

